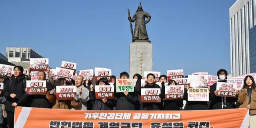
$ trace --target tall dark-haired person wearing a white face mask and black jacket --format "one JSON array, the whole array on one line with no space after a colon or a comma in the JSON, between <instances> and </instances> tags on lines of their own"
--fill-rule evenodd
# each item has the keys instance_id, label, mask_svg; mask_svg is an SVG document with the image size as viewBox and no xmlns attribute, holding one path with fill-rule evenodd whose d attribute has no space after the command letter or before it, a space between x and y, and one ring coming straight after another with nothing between
<instances>
[{"instance_id":1,"label":"tall dark-haired person wearing a white face mask and black jacket","mask_svg":"<svg viewBox=\"0 0 256 128\"><path fill-rule=\"evenodd\" d=\"M220 69L217 72L218 82L227 82L228 72L225 69ZM213 84L210 89L210 109L230 109L235 108L234 103L237 98L230 98L226 96L216 96L218 91L216 90L217 83Z\"/></svg>"}]
</instances>

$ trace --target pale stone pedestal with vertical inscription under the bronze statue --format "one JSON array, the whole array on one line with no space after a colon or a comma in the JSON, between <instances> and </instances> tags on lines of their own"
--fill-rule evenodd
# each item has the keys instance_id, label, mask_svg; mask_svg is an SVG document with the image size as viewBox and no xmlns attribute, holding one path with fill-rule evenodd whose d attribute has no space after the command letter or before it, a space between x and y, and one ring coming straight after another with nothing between
<instances>
[{"instance_id":1,"label":"pale stone pedestal with vertical inscription under the bronze statue","mask_svg":"<svg viewBox=\"0 0 256 128\"><path fill-rule=\"evenodd\" d=\"M132 42L130 44L130 78L136 73L144 76L144 71L152 71L153 45L148 42Z\"/></svg>"}]
</instances>

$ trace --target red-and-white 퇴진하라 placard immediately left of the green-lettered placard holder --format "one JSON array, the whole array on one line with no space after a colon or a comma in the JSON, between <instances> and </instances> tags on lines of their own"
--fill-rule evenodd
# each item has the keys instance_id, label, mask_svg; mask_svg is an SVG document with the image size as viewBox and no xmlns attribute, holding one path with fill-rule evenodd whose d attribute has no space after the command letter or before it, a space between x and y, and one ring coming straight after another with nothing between
<instances>
[{"instance_id":1,"label":"red-and-white \ud1f4\uc9c4\ud558\ub77c placard immediately left of the green-lettered placard holder","mask_svg":"<svg viewBox=\"0 0 256 128\"><path fill-rule=\"evenodd\" d=\"M96 85L95 86L96 99L114 99L114 86L113 85Z\"/></svg>"}]
</instances>

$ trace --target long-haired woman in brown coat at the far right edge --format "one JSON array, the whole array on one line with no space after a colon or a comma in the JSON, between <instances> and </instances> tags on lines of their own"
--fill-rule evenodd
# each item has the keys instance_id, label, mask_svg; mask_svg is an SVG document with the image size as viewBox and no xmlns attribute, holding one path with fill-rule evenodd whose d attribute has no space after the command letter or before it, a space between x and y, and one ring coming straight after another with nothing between
<instances>
[{"instance_id":1,"label":"long-haired woman in brown coat at the far right edge","mask_svg":"<svg viewBox=\"0 0 256 128\"><path fill-rule=\"evenodd\" d=\"M256 127L256 87L254 78L246 76L244 78L244 86L238 91L239 108L250 109L250 128Z\"/></svg>"}]
</instances>

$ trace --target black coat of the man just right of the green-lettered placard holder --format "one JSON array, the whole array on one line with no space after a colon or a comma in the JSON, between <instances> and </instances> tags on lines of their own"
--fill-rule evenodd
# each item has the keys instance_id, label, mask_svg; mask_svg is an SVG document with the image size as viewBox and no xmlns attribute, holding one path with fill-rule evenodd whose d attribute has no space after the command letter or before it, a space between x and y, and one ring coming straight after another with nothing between
<instances>
[{"instance_id":1,"label":"black coat of the man just right of the green-lettered placard holder","mask_svg":"<svg viewBox=\"0 0 256 128\"><path fill-rule=\"evenodd\" d=\"M148 83L141 88L160 88L160 86L158 84L153 84L152 86L150 86ZM141 93L139 93L141 94ZM160 103L143 103L141 102L141 99L138 99L140 101L140 110L164 110L164 106L163 106L163 98L162 95L159 95L159 98L161 98L161 102Z\"/></svg>"}]
</instances>

